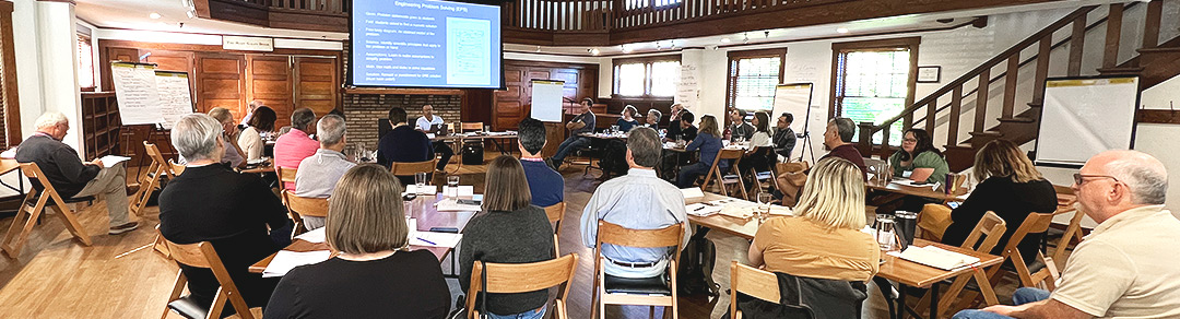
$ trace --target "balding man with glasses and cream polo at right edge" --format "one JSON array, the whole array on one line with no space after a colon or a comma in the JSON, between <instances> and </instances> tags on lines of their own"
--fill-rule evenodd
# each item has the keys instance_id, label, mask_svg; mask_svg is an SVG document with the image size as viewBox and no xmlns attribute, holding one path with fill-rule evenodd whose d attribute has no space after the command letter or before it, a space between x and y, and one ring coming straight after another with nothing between
<instances>
[{"instance_id":1,"label":"balding man with glasses and cream polo at right edge","mask_svg":"<svg viewBox=\"0 0 1180 319\"><path fill-rule=\"evenodd\" d=\"M1143 152L1095 155L1074 174L1074 191L1099 226L1069 256L1057 289L1020 288L1017 306L955 318L1180 318L1180 220L1163 209L1167 176Z\"/></svg>"}]
</instances>

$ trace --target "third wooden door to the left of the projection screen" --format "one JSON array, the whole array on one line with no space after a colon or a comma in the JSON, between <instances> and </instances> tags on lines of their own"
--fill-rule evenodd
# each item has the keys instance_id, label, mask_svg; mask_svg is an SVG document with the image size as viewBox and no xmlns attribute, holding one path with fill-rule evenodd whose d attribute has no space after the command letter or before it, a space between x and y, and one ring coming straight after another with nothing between
<instances>
[{"instance_id":1,"label":"third wooden door to the left of the projection screen","mask_svg":"<svg viewBox=\"0 0 1180 319\"><path fill-rule=\"evenodd\" d=\"M245 59L241 54L197 53L197 111L225 108L241 121L245 111Z\"/></svg>"}]
</instances>

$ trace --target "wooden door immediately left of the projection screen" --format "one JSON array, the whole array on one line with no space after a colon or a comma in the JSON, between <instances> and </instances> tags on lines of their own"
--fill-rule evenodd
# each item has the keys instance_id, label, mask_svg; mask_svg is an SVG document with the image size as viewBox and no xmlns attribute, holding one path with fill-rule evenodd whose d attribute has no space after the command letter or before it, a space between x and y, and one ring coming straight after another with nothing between
<instances>
[{"instance_id":1,"label":"wooden door immediately left of the projection screen","mask_svg":"<svg viewBox=\"0 0 1180 319\"><path fill-rule=\"evenodd\" d=\"M316 118L339 106L336 58L295 58L295 108L315 111Z\"/></svg>"}]
</instances>

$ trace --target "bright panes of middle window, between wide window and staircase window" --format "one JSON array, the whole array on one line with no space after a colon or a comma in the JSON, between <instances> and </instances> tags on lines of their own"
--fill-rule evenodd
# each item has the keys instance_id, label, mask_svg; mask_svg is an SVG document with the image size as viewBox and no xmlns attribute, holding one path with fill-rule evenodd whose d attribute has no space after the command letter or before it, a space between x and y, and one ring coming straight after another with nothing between
<instances>
[{"instance_id":1,"label":"bright panes of middle window, between wide window and staircase window","mask_svg":"<svg viewBox=\"0 0 1180 319\"><path fill-rule=\"evenodd\" d=\"M786 54L786 48L729 52L726 109L773 110L774 89L782 83Z\"/></svg>"}]
</instances>

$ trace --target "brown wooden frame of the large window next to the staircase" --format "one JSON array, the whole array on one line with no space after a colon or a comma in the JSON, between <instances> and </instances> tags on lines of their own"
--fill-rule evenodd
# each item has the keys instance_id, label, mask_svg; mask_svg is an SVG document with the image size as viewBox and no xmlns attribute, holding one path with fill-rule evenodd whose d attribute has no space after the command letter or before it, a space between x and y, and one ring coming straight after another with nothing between
<instances>
[{"instance_id":1,"label":"brown wooden frame of the large window next to the staircase","mask_svg":"<svg viewBox=\"0 0 1180 319\"><path fill-rule=\"evenodd\" d=\"M897 51L907 50L910 51L910 76L906 79L906 97L905 106L903 106L903 112L906 108L913 105L914 95L918 87L918 46L922 44L922 37L906 37L896 39L883 39L883 40L865 40L865 41L847 41L847 43L833 43L832 44L832 77L827 104L827 119L839 117L844 113L838 100L843 99L841 90L844 89L844 83L841 80L847 79L846 70L840 70L840 56L847 54L848 52L872 52L872 51ZM910 113L903 118L902 129L909 129L913 125L913 113ZM860 123L857 123L860 126ZM857 129L859 134L859 129ZM872 141L870 137L868 141ZM889 141L881 141L883 144L889 145Z\"/></svg>"}]
</instances>

